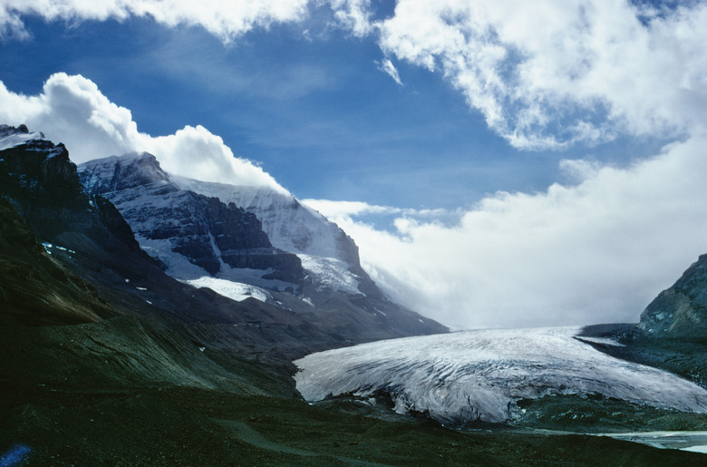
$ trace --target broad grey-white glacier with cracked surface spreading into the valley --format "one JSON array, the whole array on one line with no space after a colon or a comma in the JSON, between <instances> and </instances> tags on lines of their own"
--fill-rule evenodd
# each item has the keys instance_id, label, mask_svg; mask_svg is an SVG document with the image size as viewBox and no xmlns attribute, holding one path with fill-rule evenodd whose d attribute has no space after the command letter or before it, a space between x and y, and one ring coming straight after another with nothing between
<instances>
[{"instance_id":1,"label":"broad grey-white glacier with cracked surface spreading into the valley","mask_svg":"<svg viewBox=\"0 0 707 467\"><path fill-rule=\"evenodd\" d=\"M383 392L396 412L454 424L503 422L517 401L548 394L603 394L707 413L707 391L697 384L605 355L576 339L580 330L479 330L330 350L295 361L296 387L307 401Z\"/></svg>"}]
</instances>

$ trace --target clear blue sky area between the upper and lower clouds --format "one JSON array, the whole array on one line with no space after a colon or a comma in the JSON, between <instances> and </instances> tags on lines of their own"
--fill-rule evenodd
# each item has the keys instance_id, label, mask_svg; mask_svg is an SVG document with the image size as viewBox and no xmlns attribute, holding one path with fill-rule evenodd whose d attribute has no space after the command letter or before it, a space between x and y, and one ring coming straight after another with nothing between
<instances>
[{"instance_id":1,"label":"clear blue sky area between the upper and lower clouds","mask_svg":"<svg viewBox=\"0 0 707 467\"><path fill-rule=\"evenodd\" d=\"M396 62L398 85L373 38L332 27L330 16L312 18L307 34L274 25L227 45L145 18L24 21L32 39L2 43L8 89L36 94L52 73L81 74L130 109L140 131L201 124L304 199L468 208L497 190L546 190L561 159L623 164L658 147L641 137L518 150L441 73Z\"/></svg>"}]
</instances>

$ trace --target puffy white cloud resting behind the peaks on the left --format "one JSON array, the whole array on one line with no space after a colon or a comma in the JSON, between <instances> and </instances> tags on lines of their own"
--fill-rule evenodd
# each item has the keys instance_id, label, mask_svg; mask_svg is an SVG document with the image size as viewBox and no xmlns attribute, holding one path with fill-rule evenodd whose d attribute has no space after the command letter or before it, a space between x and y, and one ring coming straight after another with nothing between
<instances>
[{"instance_id":1,"label":"puffy white cloud resting behind the peaks on the left","mask_svg":"<svg viewBox=\"0 0 707 467\"><path fill-rule=\"evenodd\" d=\"M34 96L12 92L0 82L0 122L24 123L54 142L62 141L77 163L148 151L164 170L176 175L285 191L260 167L236 158L220 137L200 125L158 137L138 131L128 109L111 102L81 75L55 73Z\"/></svg>"}]
</instances>

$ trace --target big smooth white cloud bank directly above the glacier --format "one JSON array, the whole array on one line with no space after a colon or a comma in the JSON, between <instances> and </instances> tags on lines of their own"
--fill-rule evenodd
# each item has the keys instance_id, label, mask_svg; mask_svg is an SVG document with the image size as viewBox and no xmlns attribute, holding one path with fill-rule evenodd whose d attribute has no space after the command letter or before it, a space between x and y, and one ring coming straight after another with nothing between
<instances>
[{"instance_id":1,"label":"big smooth white cloud bank directly above the glacier","mask_svg":"<svg viewBox=\"0 0 707 467\"><path fill-rule=\"evenodd\" d=\"M364 207L326 209L394 299L457 327L635 322L707 250L707 140L627 169L567 161L576 185L499 192L460 222L401 215L383 231Z\"/></svg>"}]
</instances>

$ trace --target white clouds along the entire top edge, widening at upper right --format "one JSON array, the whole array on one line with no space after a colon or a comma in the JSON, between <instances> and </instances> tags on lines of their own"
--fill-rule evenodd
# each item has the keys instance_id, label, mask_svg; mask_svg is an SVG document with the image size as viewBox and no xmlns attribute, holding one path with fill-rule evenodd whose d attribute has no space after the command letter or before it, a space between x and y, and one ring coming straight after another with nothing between
<instances>
[{"instance_id":1,"label":"white clouds along the entire top edge, widening at upper right","mask_svg":"<svg viewBox=\"0 0 707 467\"><path fill-rule=\"evenodd\" d=\"M399 0L374 20L370 0L5 0L0 38L27 37L23 15L67 21L149 16L198 25L224 42L256 27L297 23L327 5L383 53L440 71L489 127L523 149L673 137L707 107L707 3L660 9L619 0ZM400 83L392 63L383 71Z\"/></svg>"}]
</instances>

